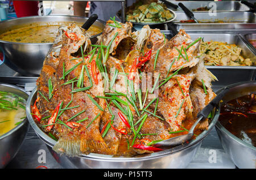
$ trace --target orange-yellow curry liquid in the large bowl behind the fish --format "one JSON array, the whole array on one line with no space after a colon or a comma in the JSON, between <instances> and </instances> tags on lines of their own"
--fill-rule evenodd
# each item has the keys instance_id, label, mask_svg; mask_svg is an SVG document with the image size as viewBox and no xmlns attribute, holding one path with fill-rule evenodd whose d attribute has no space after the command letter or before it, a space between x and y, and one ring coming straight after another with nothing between
<instances>
[{"instance_id":1,"label":"orange-yellow curry liquid in the large bowl behind the fish","mask_svg":"<svg viewBox=\"0 0 256 180\"><path fill-rule=\"evenodd\" d=\"M64 25L67 25L67 23ZM28 27L10 29L10 31L0 35L0 40L23 43L53 42L56 38L59 26L60 24L40 25L38 23L32 23ZM92 25L87 32L89 32L91 36L94 36L101 33L102 29Z\"/></svg>"}]
</instances>

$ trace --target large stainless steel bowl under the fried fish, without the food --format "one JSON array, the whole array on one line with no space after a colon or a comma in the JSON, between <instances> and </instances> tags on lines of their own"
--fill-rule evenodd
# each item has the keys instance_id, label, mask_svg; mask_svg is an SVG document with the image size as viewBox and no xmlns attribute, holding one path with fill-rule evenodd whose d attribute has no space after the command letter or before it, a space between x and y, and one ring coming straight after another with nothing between
<instances>
[{"instance_id":1,"label":"large stainless steel bowl under the fried fish, without the food","mask_svg":"<svg viewBox=\"0 0 256 180\"><path fill-rule=\"evenodd\" d=\"M207 136L217 122L220 108L216 111L208 130L203 131L196 139L191 140L188 144L181 144L177 147L167 149L160 152L139 155L137 157L114 157L110 155L100 155L90 153L89 155L81 155L77 157L68 157L59 155L52 150L56 141L45 134L34 122L31 116L30 106L36 100L36 88L31 92L27 100L26 112L28 122L35 130L39 138L47 144L49 151L57 162L64 168L185 168L191 162L197 149L200 148L202 140Z\"/></svg>"}]
</instances>

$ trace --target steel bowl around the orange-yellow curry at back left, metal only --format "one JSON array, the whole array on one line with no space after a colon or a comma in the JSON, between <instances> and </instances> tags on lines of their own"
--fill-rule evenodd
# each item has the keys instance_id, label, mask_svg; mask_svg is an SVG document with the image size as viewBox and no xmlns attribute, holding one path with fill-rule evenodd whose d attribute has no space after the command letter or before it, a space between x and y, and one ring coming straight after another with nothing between
<instances>
[{"instance_id":1,"label":"steel bowl around the orange-yellow curry at back left, metal only","mask_svg":"<svg viewBox=\"0 0 256 180\"><path fill-rule=\"evenodd\" d=\"M85 23L88 18L80 16L68 15L50 15L50 16L29 16L6 20L0 23L0 34L8 31L11 28L29 23L51 23L59 24L58 22L76 22ZM102 29L105 27L105 22L96 20L93 23ZM98 34L100 35L100 34ZM97 41L97 36L90 37L92 43ZM23 75L39 75L43 66L44 58L51 48L52 43L21 43L9 42L0 40L0 46L5 53L5 63L13 70Z\"/></svg>"}]
</instances>

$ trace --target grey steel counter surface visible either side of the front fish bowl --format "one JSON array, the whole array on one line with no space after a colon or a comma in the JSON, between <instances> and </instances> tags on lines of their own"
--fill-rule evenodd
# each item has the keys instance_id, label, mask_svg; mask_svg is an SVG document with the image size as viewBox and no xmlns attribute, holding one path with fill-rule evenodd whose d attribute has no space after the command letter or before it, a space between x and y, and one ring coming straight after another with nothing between
<instances>
[{"instance_id":1,"label":"grey steel counter surface visible either side of the front fish bowl","mask_svg":"<svg viewBox=\"0 0 256 180\"><path fill-rule=\"evenodd\" d=\"M214 156L216 156L216 161L214 161ZM48 169L63 169L30 126L22 147L6 168L36 169L39 166L46 166ZM224 152L217 132L213 128L203 140L201 148L187 168L236 168L236 166Z\"/></svg>"}]
</instances>

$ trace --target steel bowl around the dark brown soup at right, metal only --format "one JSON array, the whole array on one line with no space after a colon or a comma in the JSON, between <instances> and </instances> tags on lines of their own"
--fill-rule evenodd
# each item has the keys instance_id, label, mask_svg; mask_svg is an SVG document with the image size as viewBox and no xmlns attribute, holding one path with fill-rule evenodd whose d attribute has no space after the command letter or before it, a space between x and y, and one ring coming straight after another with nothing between
<instances>
[{"instance_id":1,"label":"steel bowl around the dark brown soup at right, metal only","mask_svg":"<svg viewBox=\"0 0 256 180\"><path fill-rule=\"evenodd\" d=\"M222 100L224 102L230 101L237 97L249 95L252 92L256 93L256 81L232 84ZM220 122L216 123L216 130L222 147L238 168L256 168L256 148L253 145L247 144L234 136Z\"/></svg>"}]
</instances>

